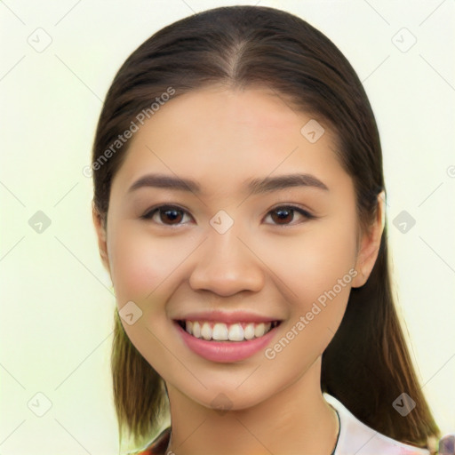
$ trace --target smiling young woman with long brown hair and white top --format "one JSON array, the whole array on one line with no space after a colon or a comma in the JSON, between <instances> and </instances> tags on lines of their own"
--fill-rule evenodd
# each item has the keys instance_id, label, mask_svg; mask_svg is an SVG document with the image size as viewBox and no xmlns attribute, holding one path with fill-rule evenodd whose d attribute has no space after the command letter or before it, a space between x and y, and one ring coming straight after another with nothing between
<instances>
[{"instance_id":1,"label":"smiling young woman with long brown hair and white top","mask_svg":"<svg viewBox=\"0 0 455 455\"><path fill-rule=\"evenodd\" d=\"M92 170L121 438L143 454L434 452L377 126L326 36L259 6L159 30L108 91Z\"/></svg>"}]
</instances>

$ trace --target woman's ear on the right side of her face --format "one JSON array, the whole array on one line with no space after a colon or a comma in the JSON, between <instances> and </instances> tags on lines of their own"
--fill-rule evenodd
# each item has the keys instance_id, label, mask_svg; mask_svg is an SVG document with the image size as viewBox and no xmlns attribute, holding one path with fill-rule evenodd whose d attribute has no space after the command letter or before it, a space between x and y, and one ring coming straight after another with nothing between
<instances>
[{"instance_id":1,"label":"woman's ear on the right side of her face","mask_svg":"<svg viewBox=\"0 0 455 455\"><path fill-rule=\"evenodd\" d=\"M355 263L355 270L358 274L353 280L352 287L359 288L363 286L371 274L376 259L378 258L380 240L384 232L384 225L386 221L386 195L382 190L378 195L378 211L376 220L372 224L369 232L363 233L360 248L357 253L357 260Z\"/></svg>"}]
</instances>

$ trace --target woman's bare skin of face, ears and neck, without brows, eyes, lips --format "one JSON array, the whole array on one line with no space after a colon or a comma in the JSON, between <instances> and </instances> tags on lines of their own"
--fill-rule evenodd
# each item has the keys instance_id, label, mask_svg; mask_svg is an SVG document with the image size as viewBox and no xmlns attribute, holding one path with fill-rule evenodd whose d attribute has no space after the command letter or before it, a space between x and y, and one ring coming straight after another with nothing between
<instances>
[{"instance_id":1,"label":"woman's bare skin of face, ears and neck, without brows, eyes, lips","mask_svg":"<svg viewBox=\"0 0 455 455\"><path fill-rule=\"evenodd\" d=\"M212 86L169 100L132 138L112 182L107 232L93 212L118 308L133 301L142 311L132 325L122 323L166 383L168 451L177 455L329 455L336 442L338 419L320 387L321 355L351 286L365 283L377 259L384 206L379 195L378 218L361 233L353 181L337 161L330 130L315 143L300 133L311 118L265 89ZM204 193L128 194L149 172L194 179ZM329 190L242 191L243 180L296 172ZM186 211L177 226L163 212L140 219L160 204ZM273 210L289 204L317 218L293 212L279 224ZM220 210L234 220L222 235L209 223ZM248 310L283 320L273 347L353 268L355 278L272 360L259 351L235 363L208 361L188 349L172 323L188 311ZM213 409L221 393L229 411Z\"/></svg>"}]
</instances>

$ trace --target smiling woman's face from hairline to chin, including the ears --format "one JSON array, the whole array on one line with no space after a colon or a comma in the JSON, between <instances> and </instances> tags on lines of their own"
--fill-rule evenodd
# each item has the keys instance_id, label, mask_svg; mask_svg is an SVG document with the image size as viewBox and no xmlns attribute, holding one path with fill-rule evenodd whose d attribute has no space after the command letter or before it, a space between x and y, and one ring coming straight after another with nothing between
<instances>
[{"instance_id":1,"label":"smiling woman's face from hairline to chin, including the ears","mask_svg":"<svg viewBox=\"0 0 455 455\"><path fill-rule=\"evenodd\" d=\"M300 132L311 118L265 90L190 92L134 134L112 181L97 229L124 330L197 403L243 409L302 377L376 259L330 130Z\"/></svg>"}]
</instances>

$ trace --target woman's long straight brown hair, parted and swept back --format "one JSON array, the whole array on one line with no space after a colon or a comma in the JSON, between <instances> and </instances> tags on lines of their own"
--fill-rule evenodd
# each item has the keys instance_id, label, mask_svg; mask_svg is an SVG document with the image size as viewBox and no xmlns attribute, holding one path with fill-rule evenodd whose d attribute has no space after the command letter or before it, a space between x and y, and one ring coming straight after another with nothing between
<instances>
[{"instance_id":1,"label":"woman's long straight brown hair, parted and swept back","mask_svg":"<svg viewBox=\"0 0 455 455\"><path fill-rule=\"evenodd\" d=\"M329 125L339 161L354 182L359 224L368 228L385 185L379 133L363 86L323 33L289 12L264 6L219 7L178 20L124 61L108 90L92 155L93 207L105 227L111 180L129 145L112 150L119 134L143 109L150 114L151 103L170 88L175 98L212 84L267 86L292 108ZM109 147L112 153L101 162ZM126 427L138 442L156 434L167 394L163 379L126 336L117 309L115 318L116 414L120 433ZM321 387L395 440L427 446L427 438L440 437L394 305L387 224L371 275L352 289L339 330L323 353ZM392 406L403 393L416 403L405 418Z\"/></svg>"}]
</instances>

